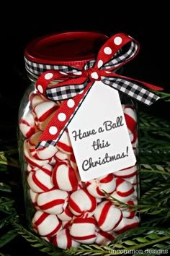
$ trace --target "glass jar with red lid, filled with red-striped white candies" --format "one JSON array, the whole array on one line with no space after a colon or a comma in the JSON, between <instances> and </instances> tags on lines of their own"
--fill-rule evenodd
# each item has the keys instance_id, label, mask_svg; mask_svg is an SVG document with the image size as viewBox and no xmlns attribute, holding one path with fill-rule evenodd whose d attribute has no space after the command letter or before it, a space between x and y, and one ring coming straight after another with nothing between
<instances>
[{"instance_id":1,"label":"glass jar with red lid, filled with red-striped white candies","mask_svg":"<svg viewBox=\"0 0 170 256\"><path fill-rule=\"evenodd\" d=\"M45 35L30 42L24 52L30 85L19 107L18 145L27 225L62 249L108 244L117 234L140 223L137 213L125 206L136 205L139 196L137 112L125 93L120 93L120 100L137 159L134 166L82 182L67 130L55 146L36 148L62 103L45 98L36 89L38 77L58 67L82 69L88 61L94 61L107 39L107 35L89 31ZM108 213L104 213L106 210Z\"/></svg>"}]
</instances>

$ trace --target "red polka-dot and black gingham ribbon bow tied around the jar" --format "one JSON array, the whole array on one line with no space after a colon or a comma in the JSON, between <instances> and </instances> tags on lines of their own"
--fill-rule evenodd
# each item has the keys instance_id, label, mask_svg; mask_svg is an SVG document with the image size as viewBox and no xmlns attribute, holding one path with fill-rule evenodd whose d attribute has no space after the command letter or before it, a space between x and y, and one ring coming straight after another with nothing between
<instances>
[{"instance_id":1,"label":"red polka-dot and black gingham ribbon bow tied around the jar","mask_svg":"<svg viewBox=\"0 0 170 256\"><path fill-rule=\"evenodd\" d=\"M106 86L126 93L148 106L157 101L159 97L143 86L151 90L163 88L116 73L117 69L133 59L138 51L138 41L125 33L118 33L104 43L99 49L97 59L86 63L84 69L59 65L58 70L42 73L36 82L37 90L52 101L61 101L61 106L42 133L36 148L57 144L95 81L101 80ZM53 81L57 81L55 85L51 83Z\"/></svg>"}]
</instances>

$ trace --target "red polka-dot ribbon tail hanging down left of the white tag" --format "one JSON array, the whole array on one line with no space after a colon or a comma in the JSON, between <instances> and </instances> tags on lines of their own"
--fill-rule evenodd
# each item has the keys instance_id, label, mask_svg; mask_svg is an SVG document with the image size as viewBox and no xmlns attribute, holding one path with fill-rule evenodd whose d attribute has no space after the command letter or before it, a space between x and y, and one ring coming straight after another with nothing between
<instances>
[{"instance_id":1,"label":"red polka-dot ribbon tail hanging down left of the white tag","mask_svg":"<svg viewBox=\"0 0 170 256\"><path fill-rule=\"evenodd\" d=\"M78 111L81 103L84 101L86 94L89 93L91 82L86 85L86 88L73 98L69 98L61 104L60 108L55 112L50 119L45 131L42 133L40 140L36 146L37 149L48 148L50 145L55 146L60 140L63 132L68 127L68 124L73 119L73 116Z\"/></svg>"}]
</instances>

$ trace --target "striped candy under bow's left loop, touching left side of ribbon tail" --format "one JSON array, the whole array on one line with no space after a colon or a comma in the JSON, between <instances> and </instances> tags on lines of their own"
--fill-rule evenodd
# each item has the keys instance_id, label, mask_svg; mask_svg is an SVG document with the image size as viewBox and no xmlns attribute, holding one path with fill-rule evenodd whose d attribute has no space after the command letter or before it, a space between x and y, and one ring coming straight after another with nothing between
<instances>
[{"instance_id":1,"label":"striped candy under bow's left loop, touching left side of ribbon tail","mask_svg":"<svg viewBox=\"0 0 170 256\"><path fill-rule=\"evenodd\" d=\"M54 101L43 101L33 108L37 128L44 131L50 119L52 119L58 105Z\"/></svg>"}]
</instances>

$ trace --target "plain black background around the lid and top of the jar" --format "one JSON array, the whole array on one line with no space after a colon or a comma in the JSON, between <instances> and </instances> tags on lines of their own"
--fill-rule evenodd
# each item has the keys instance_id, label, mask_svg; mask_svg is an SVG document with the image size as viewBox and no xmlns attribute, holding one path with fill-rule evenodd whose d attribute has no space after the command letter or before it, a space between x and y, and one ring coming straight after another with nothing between
<instances>
[{"instance_id":1,"label":"plain black background around the lid and top of the jar","mask_svg":"<svg viewBox=\"0 0 170 256\"><path fill-rule=\"evenodd\" d=\"M127 1L125 1L127 2ZM59 3L59 4L58 4ZM1 84L2 121L16 124L17 111L27 83L25 82L24 48L30 40L48 33L71 30L97 30L103 33L127 33L140 42L140 52L125 67L125 75L164 88L169 86L169 7L143 1L45 2L14 1L1 9ZM37 4L35 8L35 4ZM138 4L138 6L136 6ZM145 111L169 119L169 105L158 101ZM6 135L5 135L6 136ZM9 135L8 135L9 136ZM12 137L16 136L15 129ZM17 192L19 196L19 192ZM22 208L22 191L21 191ZM17 203L19 197L17 198ZM21 240L21 241L20 241ZM24 249L23 249L24 247ZM38 255L23 239L7 244L3 252L10 255ZM43 255L43 254L42 254Z\"/></svg>"}]
</instances>

